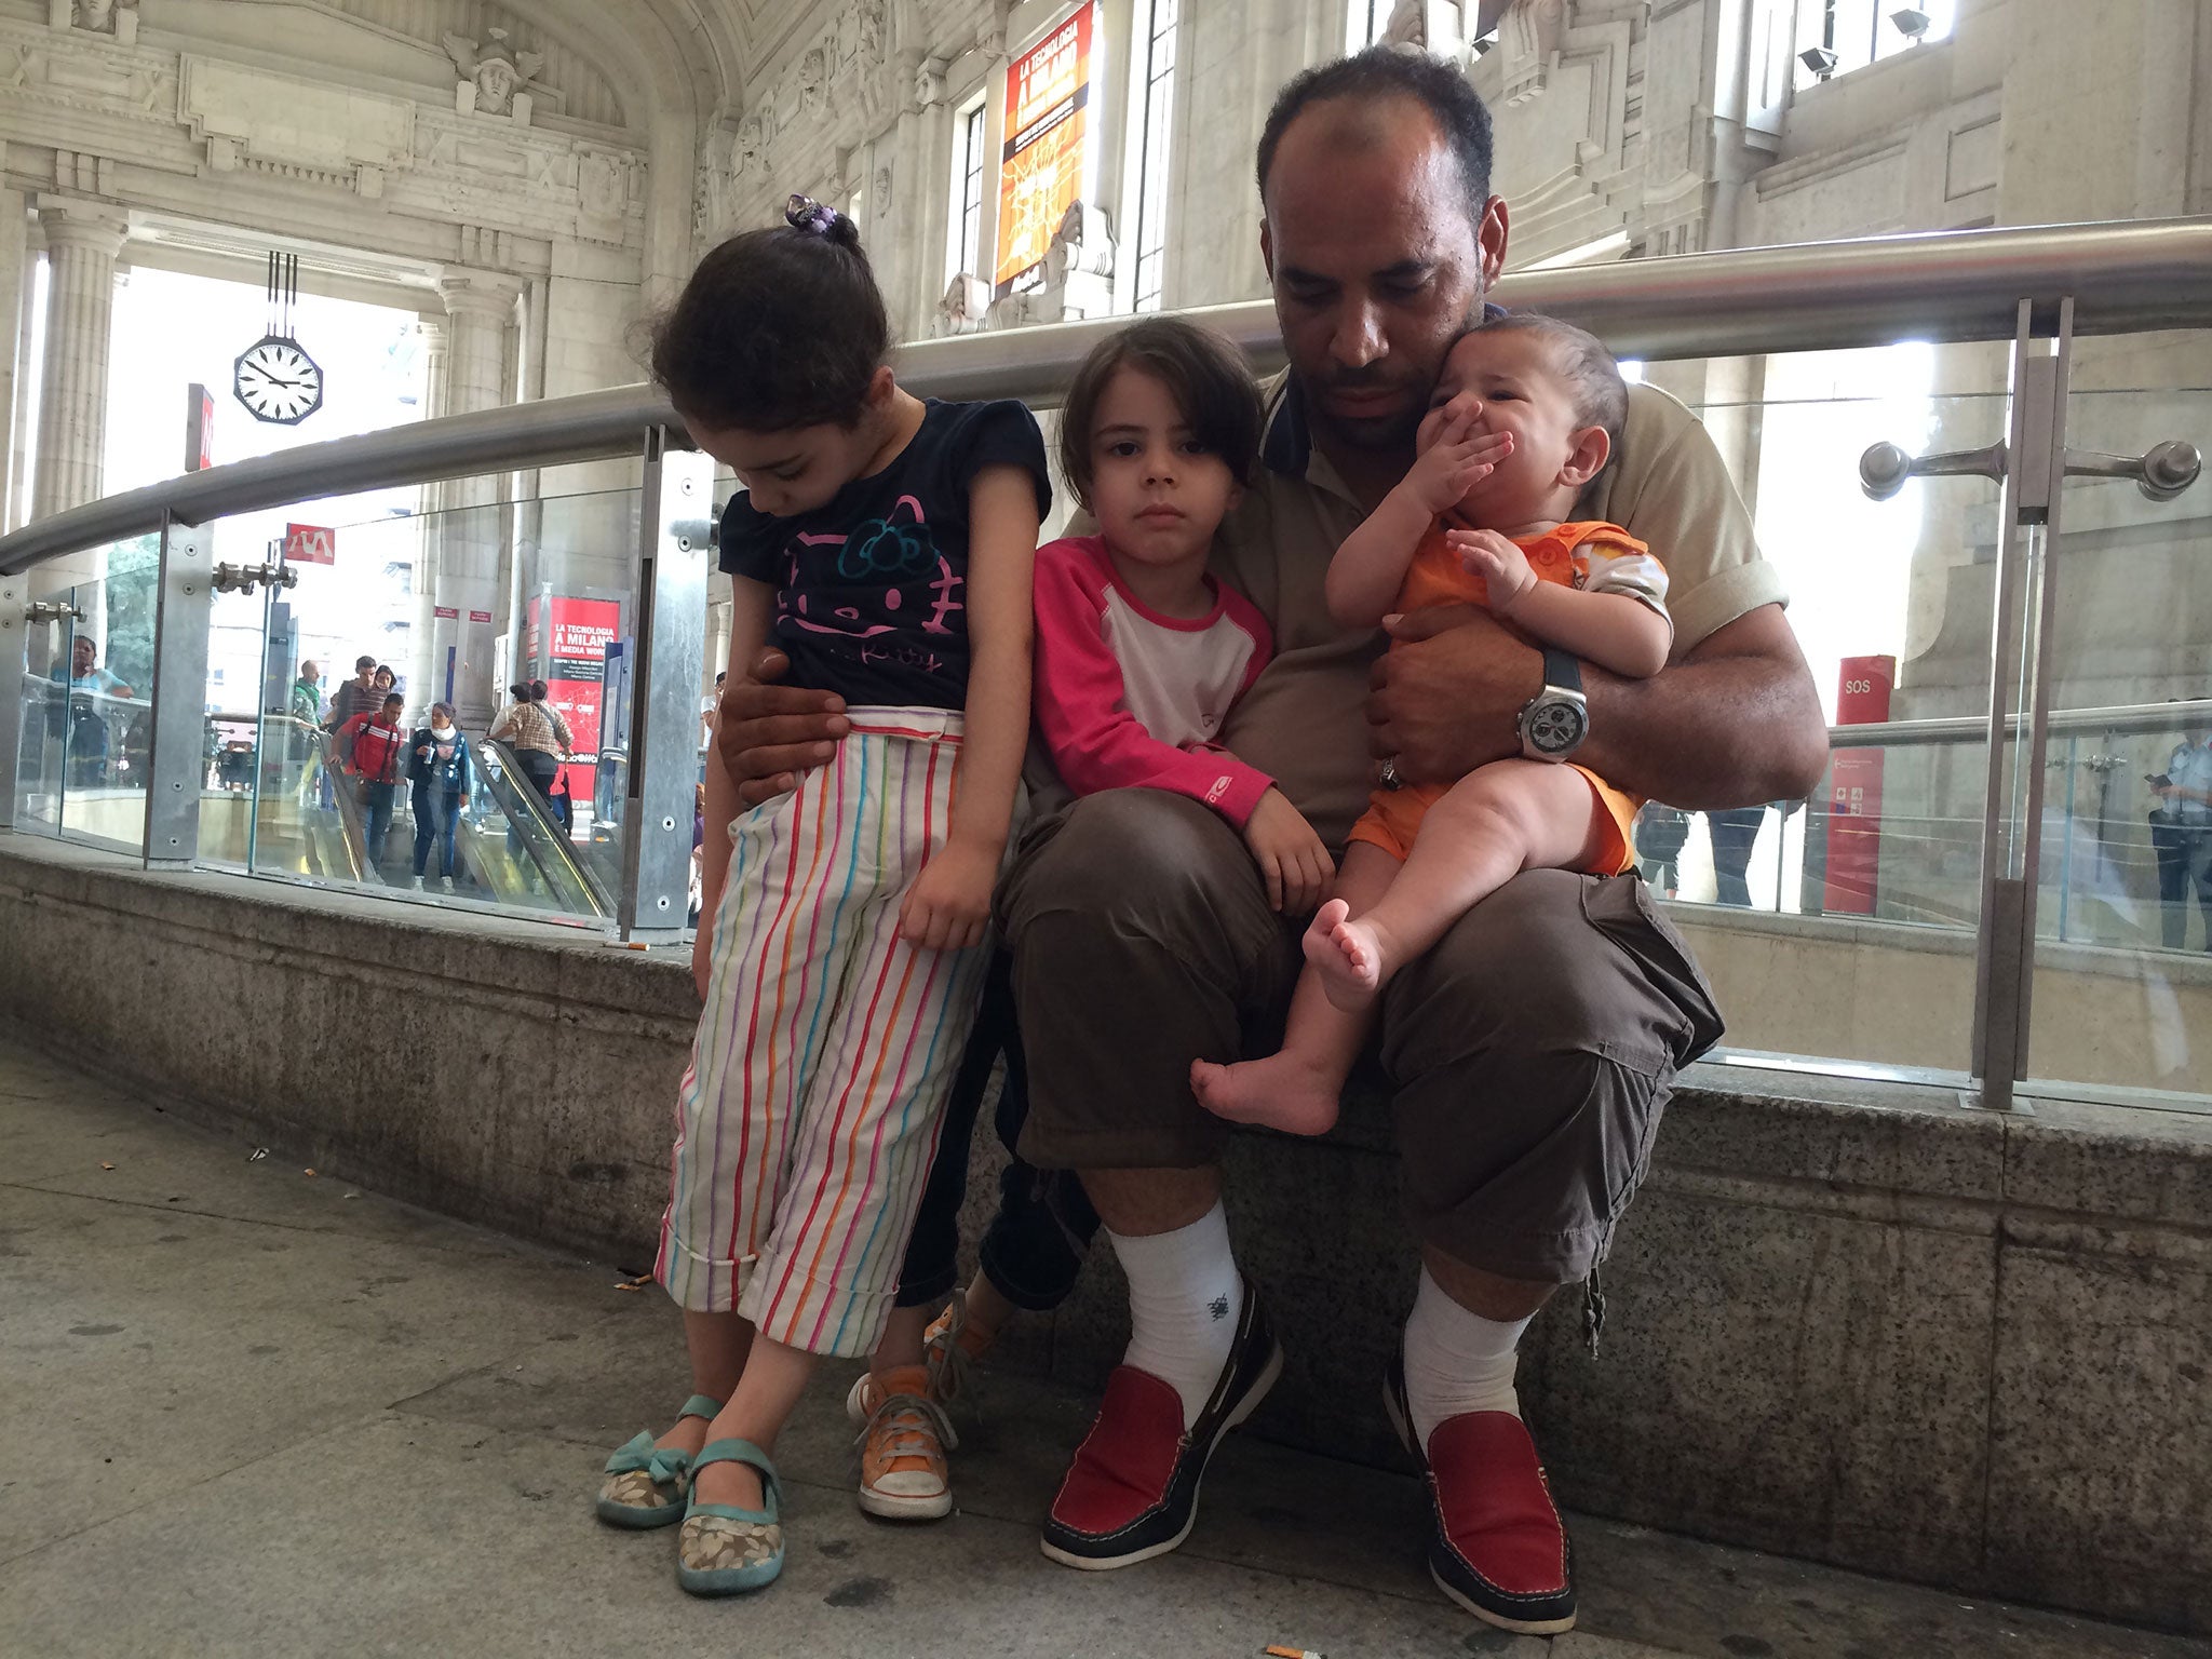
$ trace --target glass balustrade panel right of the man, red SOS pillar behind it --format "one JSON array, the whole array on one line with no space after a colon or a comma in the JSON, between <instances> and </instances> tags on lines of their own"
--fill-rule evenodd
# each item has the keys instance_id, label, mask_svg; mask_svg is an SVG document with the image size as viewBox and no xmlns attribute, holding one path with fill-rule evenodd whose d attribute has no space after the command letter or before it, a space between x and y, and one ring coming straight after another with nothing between
<instances>
[{"instance_id":1,"label":"glass balustrade panel right of the man, red SOS pillar behind it","mask_svg":"<svg viewBox=\"0 0 2212 1659\"><path fill-rule=\"evenodd\" d=\"M1730 1051L1964 1073L2000 484L1913 478L1874 500L1860 458L1880 442L1905 456L2002 442L2008 347L1630 372L1705 420L1838 737L1807 801L1646 805L1637 863L1714 982ZM1694 611L1679 584L1670 597ZM1891 732L1900 721L1940 726Z\"/></svg>"}]
</instances>

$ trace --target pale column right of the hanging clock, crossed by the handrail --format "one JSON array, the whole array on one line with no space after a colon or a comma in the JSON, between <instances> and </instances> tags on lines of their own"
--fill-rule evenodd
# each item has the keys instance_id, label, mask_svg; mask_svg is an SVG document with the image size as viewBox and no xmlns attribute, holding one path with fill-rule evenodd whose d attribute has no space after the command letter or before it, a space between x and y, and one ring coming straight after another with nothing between
<instances>
[{"instance_id":1,"label":"pale column right of the hanging clock, crossed by the handrail","mask_svg":"<svg viewBox=\"0 0 2212 1659\"><path fill-rule=\"evenodd\" d=\"M436 414L476 414L513 403L507 372L507 332L522 299L520 276L449 272L438 283L445 299L442 398ZM507 588L511 553L509 478L456 478L442 489L442 511L429 538L434 551L425 599L431 611L429 679L420 701L445 699L467 730L484 730L498 710L493 684L493 626ZM438 611L453 615L440 617ZM484 622L476 622L484 617ZM414 688L409 688L411 701Z\"/></svg>"}]
</instances>

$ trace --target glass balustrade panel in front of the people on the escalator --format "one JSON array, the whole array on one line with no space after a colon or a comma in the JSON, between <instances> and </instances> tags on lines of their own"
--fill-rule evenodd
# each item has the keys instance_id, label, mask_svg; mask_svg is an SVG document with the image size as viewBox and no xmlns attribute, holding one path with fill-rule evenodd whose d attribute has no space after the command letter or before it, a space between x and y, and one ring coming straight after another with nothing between
<instances>
[{"instance_id":1,"label":"glass balustrade panel in front of the people on the escalator","mask_svg":"<svg viewBox=\"0 0 2212 1659\"><path fill-rule=\"evenodd\" d=\"M571 834L566 779L533 787L502 717L509 686L538 677L531 588L571 591L568 549L546 555L540 526L595 526L619 639L637 491L509 502L498 480L456 480L422 493L442 504L268 549L237 531L292 580L217 602L210 681L254 697L210 719L223 757L210 807L243 816L243 834L204 832L204 845L263 876L604 925L615 887L591 869L595 821L582 814ZM394 739L380 734L387 699ZM595 761L580 754L586 801ZM619 812L599 823L615 834ZM619 843L613 867L619 883Z\"/></svg>"}]
</instances>

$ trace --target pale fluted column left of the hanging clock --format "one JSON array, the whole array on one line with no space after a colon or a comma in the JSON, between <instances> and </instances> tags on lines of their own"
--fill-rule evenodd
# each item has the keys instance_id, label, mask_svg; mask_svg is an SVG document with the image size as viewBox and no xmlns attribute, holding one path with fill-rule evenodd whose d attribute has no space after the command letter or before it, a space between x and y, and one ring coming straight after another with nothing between
<instances>
[{"instance_id":1,"label":"pale fluted column left of the hanging clock","mask_svg":"<svg viewBox=\"0 0 2212 1659\"><path fill-rule=\"evenodd\" d=\"M128 226L115 208L66 197L40 197L38 221L46 232L49 283L31 515L46 518L100 495L115 257Z\"/></svg>"}]
</instances>

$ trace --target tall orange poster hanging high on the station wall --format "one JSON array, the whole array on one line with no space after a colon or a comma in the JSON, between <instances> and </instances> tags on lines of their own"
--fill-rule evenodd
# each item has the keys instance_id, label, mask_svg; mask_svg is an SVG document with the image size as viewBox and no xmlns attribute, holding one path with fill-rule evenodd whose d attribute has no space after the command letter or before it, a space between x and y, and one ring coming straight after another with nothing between
<instances>
[{"instance_id":1,"label":"tall orange poster hanging high on the station wall","mask_svg":"<svg viewBox=\"0 0 2212 1659\"><path fill-rule=\"evenodd\" d=\"M998 263L993 296L1044 281L1044 250L1086 184L1091 135L1091 38L1086 4L1006 69L1006 144L998 161Z\"/></svg>"}]
</instances>

